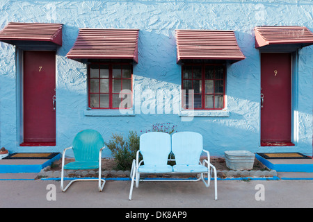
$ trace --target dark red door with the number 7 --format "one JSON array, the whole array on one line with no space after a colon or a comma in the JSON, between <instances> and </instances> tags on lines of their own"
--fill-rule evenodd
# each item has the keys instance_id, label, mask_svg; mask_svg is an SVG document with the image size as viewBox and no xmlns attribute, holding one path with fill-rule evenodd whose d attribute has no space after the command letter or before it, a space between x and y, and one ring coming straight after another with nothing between
<instances>
[{"instance_id":1,"label":"dark red door with the number 7","mask_svg":"<svg viewBox=\"0 0 313 222\"><path fill-rule=\"evenodd\" d=\"M55 145L56 53L24 51L24 146Z\"/></svg>"}]
</instances>

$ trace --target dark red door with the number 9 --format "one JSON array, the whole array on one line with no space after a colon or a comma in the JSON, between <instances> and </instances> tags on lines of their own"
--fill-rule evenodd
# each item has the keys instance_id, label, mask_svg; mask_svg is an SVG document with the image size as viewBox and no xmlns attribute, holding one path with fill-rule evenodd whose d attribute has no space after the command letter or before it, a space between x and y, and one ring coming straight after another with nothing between
<instances>
[{"instance_id":1,"label":"dark red door with the number 9","mask_svg":"<svg viewBox=\"0 0 313 222\"><path fill-rule=\"evenodd\" d=\"M261 144L291 142L291 54L261 54Z\"/></svg>"}]
</instances>

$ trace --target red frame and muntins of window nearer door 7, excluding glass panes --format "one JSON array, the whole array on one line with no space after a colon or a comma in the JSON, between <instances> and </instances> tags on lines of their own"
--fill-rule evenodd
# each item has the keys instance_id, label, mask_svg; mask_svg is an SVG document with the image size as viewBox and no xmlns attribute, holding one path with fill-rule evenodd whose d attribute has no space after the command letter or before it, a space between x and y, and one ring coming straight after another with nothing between
<instances>
[{"instance_id":1,"label":"red frame and muntins of window nearer door 7, excluding glass panes","mask_svg":"<svg viewBox=\"0 0 313 222\"><path fill-rule=\"evenodd\" d=\"M93 66L93 65L97 65L98 66L98 69L99 69L99 76L98 78L95 78L95 77L91 77L90 75L90 68ZM100 70L101 70L101 65L107 65L109 66L109 78L102 78L100 76ZM120 75L120 78L113 78L113 66L121 66L121 75ZM122 72L122 67L123 66L129 66L130 67L130 70L131 70L131 77L130 78L124 78L123 77L123 72ZM99 92L90 92L90 82L91 80L99 80ZM101 80L109 80L109 92L101 92ZM120 86L120 89L122 89L122 83L123 83L123 80L131 80L131 93L123 93L122 95L127 95L127 96L131 96L131 105L128 107L128 108L125 108L125 107L122 107L122 108L119 108L119 107L113 107L113 95L119 95L120 92L113 92L113 80L120 80L121 82L121 86ZM90 105L90 95L99 95L99 106L98 107L91 107ZM109 107L108 108L103 108L101 107L101 95L103 94L108 94L109 95ZM90 109L95 109L95 110L118 110L118 109L123 109L123 110L128 110L130 108L132 108L133 106L133 99L132 99L132 94L133 94L133 66L128 63L128 62L91 62L89 65L88 65L88 107ZM120 101L122 102L123 100L125 99L125 96L120 98Z\"/></svg>"}]
</instances>

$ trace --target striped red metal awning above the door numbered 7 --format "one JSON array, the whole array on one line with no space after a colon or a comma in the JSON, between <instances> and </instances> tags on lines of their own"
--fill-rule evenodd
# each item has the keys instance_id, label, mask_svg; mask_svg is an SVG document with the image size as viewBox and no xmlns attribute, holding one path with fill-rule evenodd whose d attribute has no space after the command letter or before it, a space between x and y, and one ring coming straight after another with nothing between
<instances>
[{"instance_id":1,"label":"striped red metal awning above the door numbered 7","mask_svg":"<svg viewBox=\"0 0 313 222\"><path fill-rule=\"evenodd\" d=\"M0 31L0 41L9 44L38 41L62 45L63 24L9 22Z\"/></svg>"}]
</instances>

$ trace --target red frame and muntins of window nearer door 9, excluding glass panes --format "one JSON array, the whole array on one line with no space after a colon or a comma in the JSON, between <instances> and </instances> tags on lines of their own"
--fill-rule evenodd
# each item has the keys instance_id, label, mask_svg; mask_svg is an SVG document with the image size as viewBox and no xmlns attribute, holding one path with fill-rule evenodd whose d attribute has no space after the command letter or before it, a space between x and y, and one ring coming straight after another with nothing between
<instances>
[{"instance_id":1,"label":"red frame and muntins of window nearer door 9, excluding glass panes","mask_svg":"<svg viewBox=\"0 0 313 222\"><path fill-rule=\"evenodd\" d=\"M184 69L185 67L192 67L192 75L191 78L184 78ZM201 78L193 78L194 69L193 67L201 67ZM214 67L214 78L206 78L205 76L205 68L206 67ZM216 78L216 67L223 67L223 78ZM194 95L201 95L201 107L195 108L195 104L193 104L194 110L223 110L225 108L225 82L226 82L226 66L223 64L198 64L198 63L185 63L182 65L182 89L184 89L184 80L191 80L191 85L193 89L193 83L194 80L201 80L201 92L194 92ZM213 93L207 93L205 92L205 80L213 80ZM223 80L223 93L216 92L216 81ZM184 101L184 96L188 94L188 89L186 89L186 93L182 94L182 108L186 108L186 104ZM205 95L212 95L213 96L213 108L206 108L205 107ZM222 108L216 108L215 99L216 96L223 95L223 107ZM195 99L193 99L195 101Z\"/></svg>"}]
</instances>

